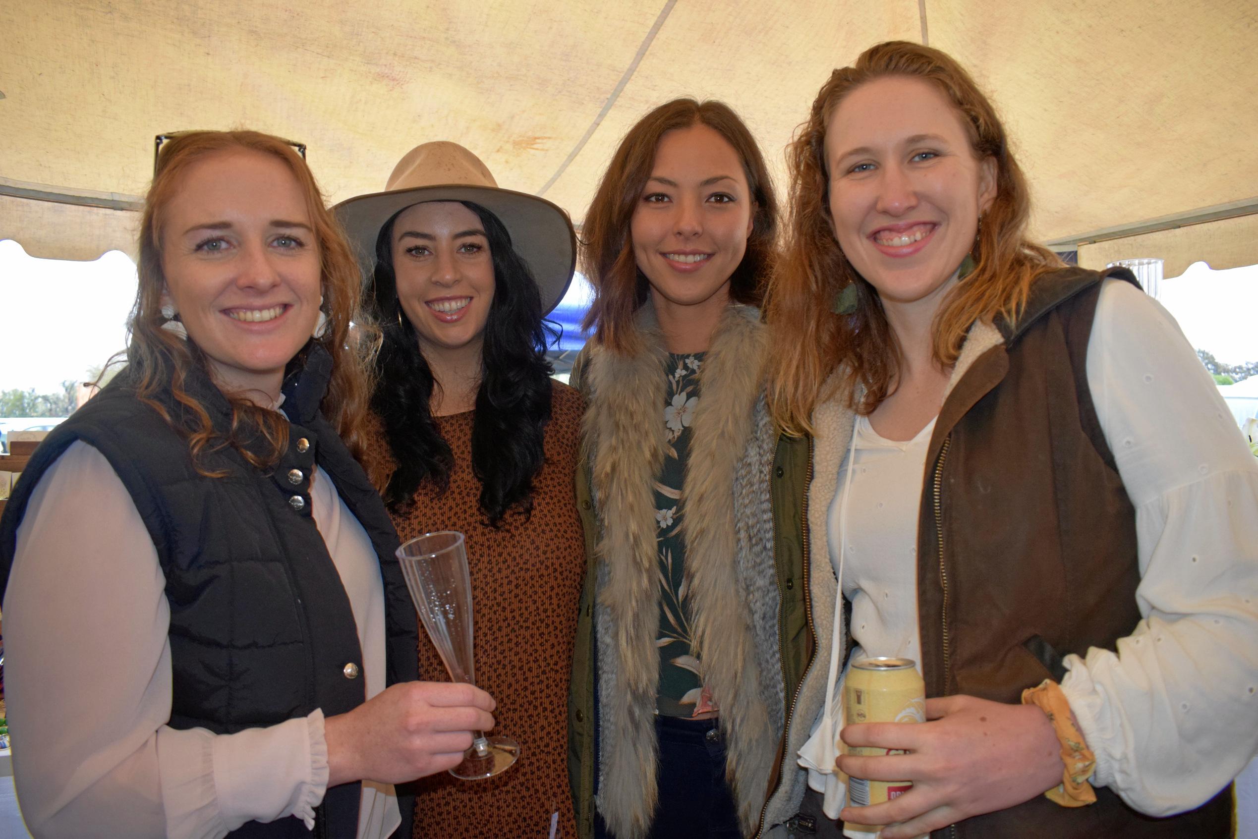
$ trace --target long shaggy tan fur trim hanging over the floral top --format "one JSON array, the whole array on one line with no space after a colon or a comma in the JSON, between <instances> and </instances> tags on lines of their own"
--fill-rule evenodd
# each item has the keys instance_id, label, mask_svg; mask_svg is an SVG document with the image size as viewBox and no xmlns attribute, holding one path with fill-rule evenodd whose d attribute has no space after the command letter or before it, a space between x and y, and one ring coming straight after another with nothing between
<instances>
[{"instance_id":1,"label":"long shaggy tan fur trim hanging over the floral top","mask_svg":"<svg viewBox=\"0 0 1258 839\"><path fill-rule=\"evenodd\" d=\"M600 523L598 805L618 839L644 836L657 804L660 577L653 486L664 460L668 351L649 304L638 316L638 328L644 351L621 357L595 350L586 374L585 434ZM750 562L737 556L738 542L746 541L737 536L735 511L735 478L754 438L765 345L759 313L731 304L699 371L682 486L693 647L721 707L727 776L749 834L760 819L780 736L780 716L770 720L771 692L764 687L766 678L780 682L780 673L760 672L769 657L759 654L741 594L747 584L740 580L740 566ZM771 553L767 561L771 569ZM776 644L776 620L772 625Z\"/></svg>"}]
</instances>

